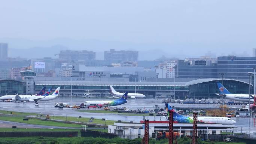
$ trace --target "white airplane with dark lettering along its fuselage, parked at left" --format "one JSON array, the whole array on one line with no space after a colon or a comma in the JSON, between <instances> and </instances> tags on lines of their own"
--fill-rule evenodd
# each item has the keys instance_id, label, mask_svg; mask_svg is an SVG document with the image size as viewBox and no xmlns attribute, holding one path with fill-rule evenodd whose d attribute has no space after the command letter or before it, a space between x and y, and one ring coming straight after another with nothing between
<instances>
[{"instance_id":1,"label":"white airplane with dark lettering along its fuselage, parked at left","mask_svg":"<svg viewBox=\"0 0 256 144\"><path fill-rule=\"evenodd\" d=\"M15 97L15 101L28 101L28 102L36 102L36 101L49 101L49 100L52 100L52 99L55 99L57 97L59 97L59 91L60 91L60 87L58 87L53 94L51 95L44 95L44 96L36 96L36 95L32 95L32 96L19 96L19 95L16 95Z\"/></svg>"}]
</instances>

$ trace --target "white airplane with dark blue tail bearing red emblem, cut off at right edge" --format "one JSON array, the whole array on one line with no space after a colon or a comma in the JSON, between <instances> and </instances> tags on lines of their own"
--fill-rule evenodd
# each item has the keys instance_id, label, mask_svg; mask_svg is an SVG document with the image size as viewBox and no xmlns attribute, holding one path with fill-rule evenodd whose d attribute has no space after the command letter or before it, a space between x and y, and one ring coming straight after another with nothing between
<instances>
[{"instance_id":1,"label":"white airplane with dark blue tail bearing red emblem, cut off at right edge","mask_svg":"<svg viewBox=\"0 0 256 144\"><path fill-rule=\"evenodd\" d=\"M219 96L223 96L224 98L232 99L235 101L249 101L249 94L231 94L221 83L217 83L220 94L216 94ZM254 102L254 97L250 95L250 101Z\"/></svg>"}]
</instances>

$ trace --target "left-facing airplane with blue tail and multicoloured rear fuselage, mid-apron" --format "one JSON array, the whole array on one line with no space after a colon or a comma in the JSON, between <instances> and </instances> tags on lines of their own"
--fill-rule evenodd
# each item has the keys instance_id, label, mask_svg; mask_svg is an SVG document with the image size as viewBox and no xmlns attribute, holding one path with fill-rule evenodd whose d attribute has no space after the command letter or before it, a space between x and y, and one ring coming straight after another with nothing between
<instances>
[{"instance_id":1,"label":"left-facing airplane with blue tail and multicoloured rear fuselage, mid-apron","mask_svg":"<svg viewBox=\"0 0 256 144\"><path fill-rule=\"evenodd\" d=\"M127 103L127 94L128 92L125 92L125 94L116 100L110 100L110 101L86 101L84 103L85 106L116 106Z\"/></svg>"}]
</instances>

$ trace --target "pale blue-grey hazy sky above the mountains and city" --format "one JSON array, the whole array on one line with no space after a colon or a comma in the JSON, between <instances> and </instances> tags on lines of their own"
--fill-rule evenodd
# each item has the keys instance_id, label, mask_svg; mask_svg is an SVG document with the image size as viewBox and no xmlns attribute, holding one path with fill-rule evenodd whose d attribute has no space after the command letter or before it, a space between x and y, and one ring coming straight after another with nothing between
<instances>
[{"instance_id":1,"label":"pale blue-grey hazy sky above the mountains and city","mask_svg":"<svg viewBox=\"0 0 256 144\"><path fill-rule=\"evenodd\" d=\"M0 0L0 38L125 42L167 57L251 53L255 6L255 0Z\"/></svg>"}]
</instances>

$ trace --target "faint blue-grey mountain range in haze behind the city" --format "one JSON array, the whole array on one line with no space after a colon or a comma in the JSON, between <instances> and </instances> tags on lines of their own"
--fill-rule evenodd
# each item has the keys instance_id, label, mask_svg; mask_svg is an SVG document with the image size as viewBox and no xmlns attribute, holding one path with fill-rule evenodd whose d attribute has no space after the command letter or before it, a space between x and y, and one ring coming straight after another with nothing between
<instances>
[{"instance_id":1,"label":"faint blue-grey mountain range in haze behind the city","mask_svg":"<svg viewBox=\"0 0 256 144\"><path fill-rule=\"evenodd\" d=\"M172 51L168 44L157 43L131 43L131 42L109 42L94 39L74 40L69 38L58 38L51 40L28 40L28 39L12 39L0 38L0 42L9 44L9 57L21 58L58 58L60 50L93 50L96 52L96 59L104 59L104 50L136 50L139 51L139 60L154 60L162 55L166 57L185 58L190 53L179 52L180 49ZM199 56L199 54L198 54ZM189 56L193 57L193 56Z\"/></svg>"}]
</instances>

